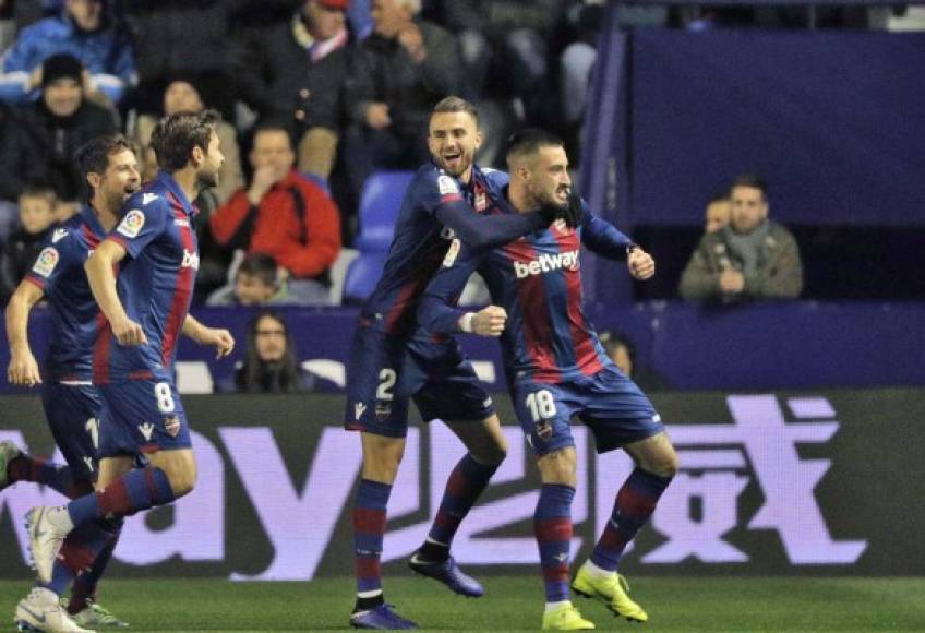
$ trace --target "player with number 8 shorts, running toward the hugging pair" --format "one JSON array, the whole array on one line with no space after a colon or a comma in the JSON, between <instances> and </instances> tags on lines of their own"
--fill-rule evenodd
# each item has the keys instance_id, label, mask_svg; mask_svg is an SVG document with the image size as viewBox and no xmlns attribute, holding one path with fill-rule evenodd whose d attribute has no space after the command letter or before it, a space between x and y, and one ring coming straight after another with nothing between
<instances>
[{"instance_id":1,"label":"player with number 8 shorts, running toward the hugging pair","mask_svg":"<svg viewBox=\"0 0 925 633\"><path fill-rule=\"evenodd\" d=\"M98 491L28 512L29 549L41 583L51 580L62 541L70 547L77 528L172 503L195 483L190 428L173 384L177 339L182 331L215 347L218 357L235 345L227 330L188 314L199 265L191 201L217 183L217 120L213 111L178 112L155 127L151 143L163 171L128 200L128 212L86 262L107 319L93 354L93 383L103 397ZM142 459L144 467L134 468Z\"/></svg>"}]
</instances>

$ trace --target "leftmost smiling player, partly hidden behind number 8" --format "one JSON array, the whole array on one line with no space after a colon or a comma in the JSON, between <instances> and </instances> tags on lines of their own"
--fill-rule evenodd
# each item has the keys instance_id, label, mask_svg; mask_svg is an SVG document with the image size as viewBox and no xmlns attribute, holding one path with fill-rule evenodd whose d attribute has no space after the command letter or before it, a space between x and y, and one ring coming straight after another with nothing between
<instances>
[{"instance_id":1,"label":"leftmost smiling player, partly hidden behind number 8","mask_svg":"<svg viewBox=\"0 0 925 633\"><path fill-rule=\"evenodd\" d=\"M99 394L91 384L93 344L99 327L99 310L89 291L84 263L89 253L119 222L122 204L141 186L134 146L121 134L100 136L76 153L81 172L92 195L81 212L55 228L23 282L7 306L7 336L12 384L43 385L41 404L55 442L68 466L50 464L23 454L12 442L0 443L0 488L16 481L50 486L70 499L93 492L98 462ZM43 383L29 348L27 330L32 308L47 299L51 309L51 348L48 382ZM45 630L73 626L125 626L96 604L96 584L116 547L121 519L88 525L72 547L55 562L51 581L39 584L16 609L21 623ZM101 546L93 559L84 542ZM84 572L84 568L89 570ZM68 612L58 596L75 580ZM47 609L46 609L47 607ZM35 612L48 611L46 622ZM70 629L69 629L70 628Z\"/></svg>"}]
</instances>

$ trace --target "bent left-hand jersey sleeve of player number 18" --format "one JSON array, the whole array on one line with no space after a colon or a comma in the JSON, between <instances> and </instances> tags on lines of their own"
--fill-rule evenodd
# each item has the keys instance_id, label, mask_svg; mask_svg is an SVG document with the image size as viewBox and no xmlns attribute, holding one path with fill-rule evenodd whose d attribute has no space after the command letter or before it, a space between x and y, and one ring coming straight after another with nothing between
<instances>
[{"instance_id":1,"label":"bent left-hand jersey sleeve of player number 18","mask_svg":"<svg viewBox=\"0 0 925 633\"><path fill-rule=\"evenodd\" d=\"M431 277L421 303L418 307L418 322L427 330L437 334L458 332L459 319L466 313L456 307L459 296L466 288L469 276L478 267L484 252L463 244L455 238L443 259L443 264Z\"/></svg>"}]
</instances>

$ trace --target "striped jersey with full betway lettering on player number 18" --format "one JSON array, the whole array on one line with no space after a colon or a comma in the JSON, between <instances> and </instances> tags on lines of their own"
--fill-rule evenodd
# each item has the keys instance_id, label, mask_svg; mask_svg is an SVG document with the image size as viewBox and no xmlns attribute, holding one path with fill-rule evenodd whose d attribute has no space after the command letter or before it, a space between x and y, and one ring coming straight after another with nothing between
<instances>
[{"instance_id":1,"label":"striped jersey with full betway lettering on player number 18","mask_svg":"<svg viewBox=\"0 0 925 633\"><path fill-rule=\"evenodd\" d=\"M505 200L495 213L516 213ZM439 334L459 332L466 311L456 301L472 272L484 278L492 303L507 311L501 337L508 384L518 380L561 383L612 365L582 310L581 244L623 259L632 240L588 212L576 229L557 222L491 250L454 243L421 301L421 325Z\"/></svg>"}]
</instances>

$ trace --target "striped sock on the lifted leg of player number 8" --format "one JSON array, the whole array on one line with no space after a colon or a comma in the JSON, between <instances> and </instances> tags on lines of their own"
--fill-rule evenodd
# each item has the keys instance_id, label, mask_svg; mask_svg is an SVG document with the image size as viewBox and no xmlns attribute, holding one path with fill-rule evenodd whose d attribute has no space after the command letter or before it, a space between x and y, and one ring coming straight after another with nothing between
<instances>
[{"instance_id":1,"label":"striped sock on the lifted leg of player number 8","mask_svg":"<svg viewBox=\"0 0 925 633\"><path fill-rule=\"evenodd\" d=\"M72 501L68 504L68 514L75 526L81 526L98 518L130 516L175 500L167 474L147 466L130 470L99 492Z\"/></svg>"}]
</instances>

